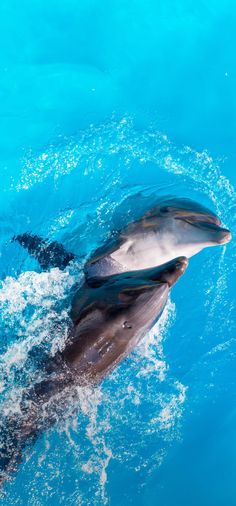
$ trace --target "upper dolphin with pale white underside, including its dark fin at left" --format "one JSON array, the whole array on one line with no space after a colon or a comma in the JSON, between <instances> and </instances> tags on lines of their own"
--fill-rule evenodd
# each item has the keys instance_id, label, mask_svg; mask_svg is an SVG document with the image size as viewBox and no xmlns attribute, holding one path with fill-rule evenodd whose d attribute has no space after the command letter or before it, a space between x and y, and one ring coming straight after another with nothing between
<instances>
[{"instance_id":1,"label":"upper dolphin with pale white underside, including its dark fin at left","mask_svg":"<svg viewBox=\"0 0 236 506\"><path fill-rule=\"evenodd\" d=\"M50 244L29 233L14 239L28 249L43 269L64 269L76 258L56 241ZM230 240L230 231L208 208L188 198L167 196L95 250L85 264L85 275L89 280L148 269L179 256L190 258L206 247Z\"/></svg>"}]
</instances>

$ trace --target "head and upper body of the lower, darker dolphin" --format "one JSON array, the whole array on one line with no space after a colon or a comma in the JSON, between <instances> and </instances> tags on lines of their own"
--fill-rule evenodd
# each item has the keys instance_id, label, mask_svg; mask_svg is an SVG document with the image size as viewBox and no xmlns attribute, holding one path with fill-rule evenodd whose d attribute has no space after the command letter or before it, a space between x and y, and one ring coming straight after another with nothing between
<instances>
[{"instance_id":1,"label":"head and upper body of the lower, darker dolphin","mask_svg":"<svg viewBox=\"0 0 236 506\"><path fill-rule=\"evenodd\" d=\"M98 382L160 317L169 289L187 267L177 258L157 268L90 280L76 295L71 343L63 352L80 383Z\"/></svg>"}]
</instances>

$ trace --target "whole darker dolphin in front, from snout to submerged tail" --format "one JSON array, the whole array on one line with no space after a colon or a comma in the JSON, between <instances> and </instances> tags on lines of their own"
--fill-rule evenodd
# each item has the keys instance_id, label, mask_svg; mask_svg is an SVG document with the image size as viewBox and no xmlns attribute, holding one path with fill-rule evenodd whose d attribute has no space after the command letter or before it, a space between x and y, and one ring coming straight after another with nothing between
<instances>
[{"instance_id":1,"label":"whole darker dolphin in front, from snout to submerged tail","mask_svg":"<svg viewBox=\"0 0 236 506\"><path fill-rule=\"evenodd\" d=\"M25 447L57 421L76 387L96 385L134 349L187 264L180 257L161 267L93 278L76 292L64 349L45 361L43 379L22 395L20 415L1 428L0 483L16 470Z\"/></svg>"}]
</instances>

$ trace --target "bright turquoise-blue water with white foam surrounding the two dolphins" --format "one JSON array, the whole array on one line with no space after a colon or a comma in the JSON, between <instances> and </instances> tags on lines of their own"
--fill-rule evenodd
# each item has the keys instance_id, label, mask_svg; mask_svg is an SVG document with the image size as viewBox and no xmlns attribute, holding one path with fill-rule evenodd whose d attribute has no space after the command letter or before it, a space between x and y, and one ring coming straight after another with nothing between
<instances>
[{"instance_id":1,"label":"bright turquoise-blue water with white foam surrounding the two dolphins","mask_svg":"<svg viewBox=\"0 0 236 506\"><path fill-rule=\"evenodd\" d=\"M192 197L236 233L236 7L208 0L0 5L0 388L67 331L91 251L140 195ZM40 272L25 231L78 255ZM139 348L29 448L10 505L236 505L235 243L191 259Z\"/></svg>"}]
</instances>

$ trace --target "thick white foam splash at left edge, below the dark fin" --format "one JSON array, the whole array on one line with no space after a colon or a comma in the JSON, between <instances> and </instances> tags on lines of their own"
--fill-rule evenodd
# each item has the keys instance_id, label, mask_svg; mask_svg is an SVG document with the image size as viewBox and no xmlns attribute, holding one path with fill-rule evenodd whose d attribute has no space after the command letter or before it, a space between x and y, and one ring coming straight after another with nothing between
<instances>
[{"instance_id":1,"label":"thick white foam splash at left edge, below the dark fin","mask_svg":"<svg viewBox=\"0 0 236 506\"><path fill-rule=\"evenodd\" d=\"M76 280L78 278L76 277ZM11 409L12 390L19 392L20 378L34 381L38 369L29 360L34 349L48 348L53 355L63 346L68 332L68 310L64 301L75 283L69 271L25 272L19 278L7 277L0 288L2 324L14 332L14 340L0 355L0 388ZM60 306L61 305L61 306ZM59 306L59 310L58 310ZM14 403L12 403L14 406Z\"/></svg>"}]
</instances>

